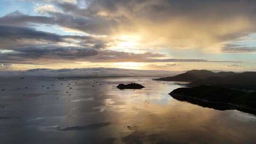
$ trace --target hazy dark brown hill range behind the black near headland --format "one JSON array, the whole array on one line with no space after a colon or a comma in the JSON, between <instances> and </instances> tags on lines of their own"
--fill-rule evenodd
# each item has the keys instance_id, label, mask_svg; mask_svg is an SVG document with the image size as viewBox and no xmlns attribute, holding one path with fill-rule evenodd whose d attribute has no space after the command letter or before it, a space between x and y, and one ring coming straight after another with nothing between
<instances>
[{"instance_id":1,"label":"hazy dark brown hill range behind the black near headland","mask_svg":"<svg viewBox=\"0 0 256 144\"><path fill-rule=\"evenodd\" d=\"M188 87L218 85L227 88L256 90L256 72L211 72L192 70L176 76L155 79L157 81L189 81Z\"/></svg>"}]
</instances>

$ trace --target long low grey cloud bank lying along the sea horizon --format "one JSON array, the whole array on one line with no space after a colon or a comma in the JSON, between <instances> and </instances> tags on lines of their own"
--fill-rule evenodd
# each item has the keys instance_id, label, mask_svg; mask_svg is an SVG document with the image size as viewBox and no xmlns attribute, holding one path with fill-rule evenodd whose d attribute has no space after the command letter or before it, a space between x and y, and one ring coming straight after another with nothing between
<instances>
[{"instance_id":1,"label":"long low grey cloud bank lying along the sea horizon","mask_svg":"<svg viewBox=\"0 0 256 144\"><path fill-rule=\"evenodd\" d=\"M0 76L46 76L46 77L109 77L109 76L168 76L178 72L130 70L117 68L82 68L82 69L31 69L27 71L0 71Z\"/></svg>"}]
</instances>

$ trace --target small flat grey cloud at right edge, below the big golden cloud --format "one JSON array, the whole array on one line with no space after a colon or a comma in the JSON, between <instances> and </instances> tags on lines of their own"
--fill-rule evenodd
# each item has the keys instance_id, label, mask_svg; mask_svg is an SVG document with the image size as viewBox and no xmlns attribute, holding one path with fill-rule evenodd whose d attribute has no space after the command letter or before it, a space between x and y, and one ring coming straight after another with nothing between
<instances>
[{"instance_id":1,"label":"small flat grey cloud at right edge, below the big golden cloud","mask_svg":"<svg viewBox=\"0 0 256 144\"><path fill-rule=\"evenodd\" d=\"M256 47L245 45L225 45L222 47L224 53L253 53L256 52Z\"/></svg>"}]
</instances>

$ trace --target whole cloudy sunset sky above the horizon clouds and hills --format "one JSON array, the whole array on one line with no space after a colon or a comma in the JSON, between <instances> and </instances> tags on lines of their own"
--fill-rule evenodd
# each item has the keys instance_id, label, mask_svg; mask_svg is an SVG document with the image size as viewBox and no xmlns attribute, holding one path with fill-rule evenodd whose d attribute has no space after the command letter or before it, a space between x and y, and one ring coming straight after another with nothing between
<instances>
[{"instance_id":1,"label":"whole cloudy sunset sky above the horizon clouds and hills","mask_svg":"<svg viewBox=\"0 0 256 144\"><path fill-rule=\"evenodd\" d=\"M256 71L256 0L0 0L0 71Z\"/></svg>"}]
</instances>

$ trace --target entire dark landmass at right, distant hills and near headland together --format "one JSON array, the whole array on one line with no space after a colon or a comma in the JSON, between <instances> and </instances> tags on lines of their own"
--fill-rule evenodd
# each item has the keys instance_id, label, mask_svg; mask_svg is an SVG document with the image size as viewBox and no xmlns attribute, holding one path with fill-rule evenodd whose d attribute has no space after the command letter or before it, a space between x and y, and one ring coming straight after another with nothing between
<instances>
[{"instance_id":1,"label":"entire dark landmass at right, distant hills and near headland together","mask_svg":"<svg viewBox=\"0 0 256 144\"><path fill-rule=\"evenodd\" d=\"M158 81L190 81L188 88L169 93L174 99L219 110L238 109L256 114L256 72L192 70Z\"/></svg>"}]
</instances>

